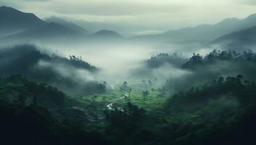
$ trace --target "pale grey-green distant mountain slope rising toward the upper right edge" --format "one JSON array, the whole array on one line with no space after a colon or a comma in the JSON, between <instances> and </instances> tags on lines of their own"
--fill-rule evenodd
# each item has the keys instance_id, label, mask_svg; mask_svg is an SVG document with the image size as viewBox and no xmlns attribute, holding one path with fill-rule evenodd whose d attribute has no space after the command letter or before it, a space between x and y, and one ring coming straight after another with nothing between
<instances>
[{"instance_id":1,"label":"pale grey-green distant mountain slope rising toward the upper right edge","mask_svg":"<svg viewBox=\"0 0 256 145\"><path fill-rule=\"evenodd\" d=\"M229 18L215 25L198 25L194 28L168 30L157 35L135 36L136 39L158 41L212 40L228 33L251 28L256 25L256 14L245 19Z\"/></svg>"}]
</instances>

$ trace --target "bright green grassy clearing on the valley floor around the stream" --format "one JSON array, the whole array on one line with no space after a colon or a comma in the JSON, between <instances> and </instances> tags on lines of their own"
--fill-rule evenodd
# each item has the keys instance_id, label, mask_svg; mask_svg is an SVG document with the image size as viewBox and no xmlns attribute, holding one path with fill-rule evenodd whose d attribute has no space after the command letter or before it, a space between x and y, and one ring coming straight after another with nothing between
<instances>
[{"instance_id":1,"label":"bright green grassy clearing on the valley floor around the stream","mask_svg":"<svg viewBox=\"0 0 256 145\"><path fill-rule=\"evenodd\" d=\"M80 96L76 99L85 105L97 106L97 109L94 110L96 112L101 112L102 110L107 109L107 104L112 103L115 99L121 98L124 94L127 94L128 97L115 101L114 105L122 107L130 101L132 104L146 109L147 112L161 108L162 104L166 99L168 99L167 95L162 94L157 87L143 83L134 83L129 85L128 87L131 88L131 94L129 94L128 91L120 91L119 86L121 85L117 85L115 88L109 89L105 94ZM154 91L152 91L152 88L154 88ZM149 95L143 96L142 92L146 90L149 91Z\"/></svg>"}]
</instances>

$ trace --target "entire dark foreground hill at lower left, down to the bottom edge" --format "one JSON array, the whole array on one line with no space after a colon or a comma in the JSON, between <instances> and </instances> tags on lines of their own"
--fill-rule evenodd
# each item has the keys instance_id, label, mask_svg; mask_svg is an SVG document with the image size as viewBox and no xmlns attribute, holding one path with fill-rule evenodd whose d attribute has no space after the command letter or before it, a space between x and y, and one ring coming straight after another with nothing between
<instances>
[{"instance_id":1,"label":"entire dark foreground hill at lower left, down to the bottom edge","mask_svg":"<svg viewBox=\"0 0 256 145\"><path fill-rule=\"evenodd\" d=\"M83 127L91 114L74 109L89 107L57 88L12 75L0 80L0 94L1 144L103 144Z\"/></svg>"}]
</instances>

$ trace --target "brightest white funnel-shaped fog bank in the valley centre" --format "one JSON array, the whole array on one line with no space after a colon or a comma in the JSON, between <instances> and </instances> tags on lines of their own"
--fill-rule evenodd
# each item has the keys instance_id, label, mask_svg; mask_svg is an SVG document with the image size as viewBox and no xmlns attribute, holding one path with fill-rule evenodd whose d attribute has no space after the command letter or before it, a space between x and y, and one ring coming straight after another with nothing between
<instances>
[{"instance_id":1,"label":"brightest white funnel-shaped fog bank in the valley centre","mask_svg":"<svg viewBox=\"0 0 256 145\"><path fill-rule=\"evenodd\" d=\"M152 56L160 53L173 54L181 53L183 57L190 58L193 53L207 54L211 49L178 49L176 46L165 43L80 43L80 44L58 44L38 45L69 58L70 55L82 57L91 65L101 70L97 76L99 80L106 80L108 83L120 83L126 79L132 80L129 74L132 70L143 67L144 62ZM177 72L178 70L174 71ZM142 80L143 78L141 78ZM136 78L138 80L138 78ZM166 80L166 78L165 78ZM140 81L140 80L139 80Z\"/></svg>"}]
</instances>

